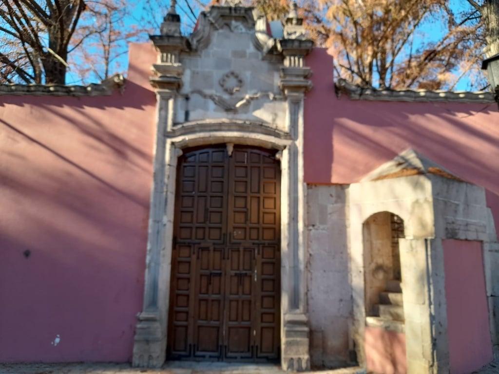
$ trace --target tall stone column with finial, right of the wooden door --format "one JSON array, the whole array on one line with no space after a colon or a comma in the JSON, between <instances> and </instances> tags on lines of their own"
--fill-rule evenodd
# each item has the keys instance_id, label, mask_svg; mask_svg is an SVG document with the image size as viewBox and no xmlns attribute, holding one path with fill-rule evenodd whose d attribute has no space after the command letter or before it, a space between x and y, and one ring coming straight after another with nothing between
<instances>
[{"instance_id":1,"label":"tall stone column with finial, right of the wooden door","mask_svg":"<svg viewBox=\"0 0 499 374\"><path fill-rule=\"evenodd\" d=\"M306 313L304 276L306 186L303 180L303 98L311 88L310 69L303 59L313 43L304 38L302 19L296 13L296 4L284 26L284 37L277 47L284 56L280 88L286 95L286 131L292 143L282 155L282 194L287 194L288 206L283 209L287 225L282 235L282 347L284 370L310 369L309 326ZM286 179L286 181L284 181Z\"/></svg>"}]
</instances>

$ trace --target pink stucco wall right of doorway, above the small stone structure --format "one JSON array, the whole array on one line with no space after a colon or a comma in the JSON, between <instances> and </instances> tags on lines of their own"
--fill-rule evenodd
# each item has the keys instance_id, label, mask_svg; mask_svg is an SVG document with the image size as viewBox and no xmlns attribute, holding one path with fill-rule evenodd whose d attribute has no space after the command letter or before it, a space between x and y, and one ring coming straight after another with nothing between
<instances>
[{"instance_id":1,"label":"pink stucco wall right of doorway, above the small stone structure","mask_svg":"<svg viewBox=\"0 0 499 374\"><path fill-rule=\"evenodd\" d=\"M499 111L496 104L370 102L337 98L332 58L307 57L313 89L305 100L305 180L358 182L407 148L486 188L499 231Z\"/></svg>"}]
</instances>

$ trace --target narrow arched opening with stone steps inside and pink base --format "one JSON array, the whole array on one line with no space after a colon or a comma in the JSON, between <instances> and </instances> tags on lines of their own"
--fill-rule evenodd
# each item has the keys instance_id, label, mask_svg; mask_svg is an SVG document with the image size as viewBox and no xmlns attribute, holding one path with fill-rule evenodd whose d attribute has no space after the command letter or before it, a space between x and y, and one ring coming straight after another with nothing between
<instances>
[{"instance_id":1,"label":"narrow arched opening with stone steps inside and pink base","mask_svg":"<svg viewBox=\"0 0 499 374\"><path fill-rule=\"evenodd\" d=\"M405 373L403 274L399 239L404 221L389 211L363 223L366 367L376 373ZM389 363L389 364L387 364Z\"/></svg>"}]
</instances>

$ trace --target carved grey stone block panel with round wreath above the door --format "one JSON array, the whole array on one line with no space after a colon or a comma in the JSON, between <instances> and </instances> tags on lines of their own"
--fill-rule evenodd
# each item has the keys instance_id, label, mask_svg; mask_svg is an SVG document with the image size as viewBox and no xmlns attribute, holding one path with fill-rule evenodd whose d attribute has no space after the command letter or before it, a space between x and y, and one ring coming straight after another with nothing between
<instances>
[{"instance_id":1,"label":"carved grey stone block panel with round wreath above the door","mask_svg":"<svg viewBox=\"0 0 499 374\"><path fill-rule=\"evenodd\" d=\"M285 100L279 89L278 59L264 59L254 30L212 32L205 48L181 56L183 87L174 123L246 120L285 130Z\"/></svg>"}]
</instances>

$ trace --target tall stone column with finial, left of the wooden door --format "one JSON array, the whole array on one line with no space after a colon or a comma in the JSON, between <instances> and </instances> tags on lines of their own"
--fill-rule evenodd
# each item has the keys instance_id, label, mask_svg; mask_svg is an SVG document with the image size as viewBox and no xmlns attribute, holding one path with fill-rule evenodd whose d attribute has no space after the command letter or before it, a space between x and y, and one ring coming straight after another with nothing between
<instances>
[{"instance_id":1,"label":"tall stone column with finial, left of the wooden door","mask_svg":"<svg viewBox=\"0 0 499 374\"><path fill-rule=\"evenodd\" d=\"M167 243L167 234L171 232L172 225L167 217L172 216L174 198L170 199L165 192L168 188L174 189L177 156L181 154L166 142L166 134L173 127L175 98L182 86L183 67L179 55L187 48L186 38L180 33L180 16L175 11L175 0L161 25L161 32L161 35L151 36L159 52L158 62L153 65L154 76L150 79L151 85L156 88L157 127L144 302L138 315L133 347L133 366L144 368L161 367L166 358L171 258L165 257L171 257L171 240Z\"/></svg>"}]
</instances>

